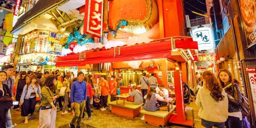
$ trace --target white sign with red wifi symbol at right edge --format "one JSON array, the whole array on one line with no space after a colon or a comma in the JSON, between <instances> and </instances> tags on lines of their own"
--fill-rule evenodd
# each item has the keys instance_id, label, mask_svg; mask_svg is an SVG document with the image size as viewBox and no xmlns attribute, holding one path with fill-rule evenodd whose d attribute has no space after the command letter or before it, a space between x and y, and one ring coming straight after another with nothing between
<instances>
[{"instance_id":1,"label":"white sign with red wifi symbol at right edge","mask_svg":"<svg viewBox=\"0 0 256 128\"><path fill-rule=\"evenodd\" d=\"M246 68L246 71L248 72L250 86L252 90L252 100L253 100L253 107L254 107L254 113L256 114L256 73L255 68Z\"/></svg>"}]
</instances>

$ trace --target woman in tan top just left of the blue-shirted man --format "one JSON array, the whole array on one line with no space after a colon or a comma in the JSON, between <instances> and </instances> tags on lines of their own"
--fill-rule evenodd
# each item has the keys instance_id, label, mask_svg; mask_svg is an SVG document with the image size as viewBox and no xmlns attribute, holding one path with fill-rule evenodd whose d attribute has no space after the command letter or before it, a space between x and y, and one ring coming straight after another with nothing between
<instances>
[{"instance_id":1,"label":"woman in tan top just left of the blue-shirted man","mask_svg":"<svg viewBox=\"0 0 256 128\"><path fill-rule=\"evenodd\" d=\"M66 110L67 108L67 105L68 105L68 95L69 95L69 92L70 92L70 89L69 89L69 77L70 76L66 76L64 78L64 81L63 81L63 87L66 87L66 90L65 90L65 96L64 96L64 104L63 104L63 109L62 109L62 115L65 115L65 114L68 114L68 109Z\"/></svg>"}]
</instances>

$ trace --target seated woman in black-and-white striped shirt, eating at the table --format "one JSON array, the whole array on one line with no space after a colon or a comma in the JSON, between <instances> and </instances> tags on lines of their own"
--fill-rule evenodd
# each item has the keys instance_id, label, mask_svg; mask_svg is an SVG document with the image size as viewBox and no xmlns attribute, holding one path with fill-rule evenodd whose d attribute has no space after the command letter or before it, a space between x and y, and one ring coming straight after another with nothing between
<instances>
[{"instance_id":1,"label":"seated woman in black-and-white striped shirt, eating at the table","mask_svg":"<svg viewBox=\"0 0 256 128\"><path fill-rule=\"evenodd\" d=\"M132 92L131 92L131 89L129 89L129 96L134 96L135 105L143 104L142 93L137 89L136 85L132 86Z\"/></svg>"}]
</instances>

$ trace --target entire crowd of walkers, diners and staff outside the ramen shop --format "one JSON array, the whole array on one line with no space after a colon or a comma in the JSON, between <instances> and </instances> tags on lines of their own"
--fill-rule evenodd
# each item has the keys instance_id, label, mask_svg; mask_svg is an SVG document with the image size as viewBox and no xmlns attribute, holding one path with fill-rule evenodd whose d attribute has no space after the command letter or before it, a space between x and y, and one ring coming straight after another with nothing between
<instances>
[{"instance_id":1,"label":"entire crowd of walkers, diners and staff outside the ramen shop","mask_svg":"<svg viewBox=\"0 0 256 128\"><path fill-rule=\"evenodd\" d=\"M85 112L88 120L92 119L91 101L95 95L92 75L85 76L83 72L78 74L69 72L61 76L59 70L53 73L45 71L44 74L40 71L17 73L13 68L12 65L5 65L0 71L0 128L12 125L10 112L12 101L20 102L14 106L14 109L17 111L21 109L24 124L28 124L28 116L33 115L36 106L39 107L39 128L55 127L57 109L61 110L62 115L68 114L70 110L74 111L74 116L69 123L71 128L75 128L75 123L76 128L81 127ZM246 120L242 115L243 93L239 89L237 80L226 69L221 69L217 78L210 71L205 71L201 76L198 74L196 74L196 77L200 78L198 83L204 82L204 86L199 88L196 95L196 105L200 107L198 115L202 119L202 126L243 128ZM164 99L169 98L169 94L164 84L160 83L157 86L154 74L151 74L149 79L146 75L143 73L143 77L140 78L141 92L134 85L132 91L129 90L129 96L134 96L135 105L141 104L146 111L154 112L159 110L159 107L167 105ZM110 94L111 101L115 100L117 83L115 76L110 77L109 84L105 75L100 79L99 86L102 90L100 110L106 111L108 95ZM190 89L185 82L182 84L184 103L188 103ZM150 91L147 94L148 87Z\"/></svg>"}]
</instances>

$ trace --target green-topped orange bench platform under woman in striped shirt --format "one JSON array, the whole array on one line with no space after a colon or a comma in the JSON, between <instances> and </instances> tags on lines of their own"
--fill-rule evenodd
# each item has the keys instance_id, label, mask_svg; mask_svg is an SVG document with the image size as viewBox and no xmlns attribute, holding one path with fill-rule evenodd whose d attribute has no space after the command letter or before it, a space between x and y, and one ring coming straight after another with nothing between
<instances>
[{"instance_id":1,"label":"green-topped orange bench platform under woman in striped shirt","mask_svg":"<svg viewBox=\"0 0 256 128\"><path fill-rule=\"evenodd\" d=\"M123 104L125 102L125 105L118 105ZM116 113L118 115L128 116L128 117L136 117L140 115L140 107L141 105L134 105L131 101L124 101L124 100L116 100L107 103L108 105L111 105L111 112Z\"/></svg>"}]
</instances>

